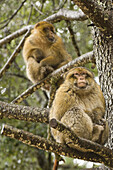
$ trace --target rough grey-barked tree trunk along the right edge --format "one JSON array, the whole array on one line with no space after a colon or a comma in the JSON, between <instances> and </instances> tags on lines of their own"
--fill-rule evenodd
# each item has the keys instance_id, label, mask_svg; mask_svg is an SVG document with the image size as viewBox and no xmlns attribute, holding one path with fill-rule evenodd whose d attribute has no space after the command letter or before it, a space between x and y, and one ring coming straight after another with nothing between
<instances>
[{"instance_id":1,"label":"rough grey-barked tree trunk along the right edge","mask_svg":"<svg viewBox=\"0 0 113 170\"><path fill-rule=\"evenodd\" d=\"M110 9L112 1L108 0L106 5L107 9ZM94 54L100 85L106 100L106 118L110 127L108 146L113 149L113 37L105 36L96 27L94 27Z\"/></svg>"}]
</instances>

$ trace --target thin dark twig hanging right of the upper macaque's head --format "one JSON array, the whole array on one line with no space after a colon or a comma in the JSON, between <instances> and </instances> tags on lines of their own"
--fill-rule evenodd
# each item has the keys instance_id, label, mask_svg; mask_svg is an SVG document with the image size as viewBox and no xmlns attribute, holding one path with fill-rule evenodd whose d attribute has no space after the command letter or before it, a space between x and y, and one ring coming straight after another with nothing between
<instances>
[{"instance_id":1,"label":"thin dark twig hanging right of the upper macaque's head","mask_svg":"<svg viewBox=\"0 0 113 170\"><path fill-rule=\"evenodd\" d=\"M73 29L71 27L71 22L70 21L67 21L67 26L68 26L68 30L69 30L69 32L71 34L71 39L72 39L73 46L75 48L77 56L79 57L80 56L80 50L79 50L79 47L77 45L77 42L76 42L76 39L75 39L75 36L74 36L75 33L74 33L74 31L73 31Z\"/></svg>"}]
</instances>

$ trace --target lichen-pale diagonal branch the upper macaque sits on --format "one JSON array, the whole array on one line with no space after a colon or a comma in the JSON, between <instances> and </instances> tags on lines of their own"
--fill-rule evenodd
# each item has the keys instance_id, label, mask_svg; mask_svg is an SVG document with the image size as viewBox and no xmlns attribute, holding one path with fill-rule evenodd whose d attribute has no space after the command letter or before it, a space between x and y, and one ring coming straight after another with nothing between
<instances>
[{"instance_id":1,"label":"lichen-pale diagonal branch the upper macaque sits on","mask_svg":"<svg viewBox=\"0 0 113 170\"><path fill-rule=\"evenodd\" d=\"M35 92L38 88L41 88L44 86L47 82L50 83L50 79L59 79L62 73L68 71L69 69L73 68L74 66L83 66L86 63L94 63L95 58L93 56L93 51L86 53L79 58L74 59L73 61L70 61L68 64L65 66L55 70L53 73L48 75L45 79L40 81L39 83L32 85L29 87L25 92L23 92L21 95L19 95L16 99L12 101L12 103L20 103L23 101L25 98L30 96L33 92Z\"/></svg>"}]
</instances>

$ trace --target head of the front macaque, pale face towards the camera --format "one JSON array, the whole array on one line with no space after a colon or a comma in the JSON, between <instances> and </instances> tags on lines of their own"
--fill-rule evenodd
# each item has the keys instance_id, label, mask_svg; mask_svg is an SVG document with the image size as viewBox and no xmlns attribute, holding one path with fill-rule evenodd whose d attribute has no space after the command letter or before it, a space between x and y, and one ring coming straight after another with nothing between
<instances>
[{"instance_id":1,"label":"head of the front macaque, pale face towards the camera","mask_svg":"<svg viewBox=\"0 0 113 170\"><path fill-rule=\"evenodd\" d=\"M83 67L70 70L66 76L66 81L79 94L90 92L95 84L93 73Z\"/></svg>"}]
</instances>

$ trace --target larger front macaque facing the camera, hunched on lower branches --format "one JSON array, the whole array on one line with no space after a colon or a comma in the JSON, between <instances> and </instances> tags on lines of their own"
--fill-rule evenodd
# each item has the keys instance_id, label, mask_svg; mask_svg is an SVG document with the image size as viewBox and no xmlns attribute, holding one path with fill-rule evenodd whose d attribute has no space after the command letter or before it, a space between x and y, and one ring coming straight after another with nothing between
<instances>
[{"instance_id":1,"label":"larger front macaque facing the camera, hunched on lower branches","mask_svg":"<svg viewBox=\"0 0 113 170\"><path fill-rule=\"evenodd\" d=\"M104 115L104 97L93 73L83 67L71 69L56 92L49 119L55 118L77 136L103 145L109 131ZM51 131L57 142L70 143L63 133L53 128ZM69 146L73 147L72 144Z\"/></svg>"}]
</instances>

